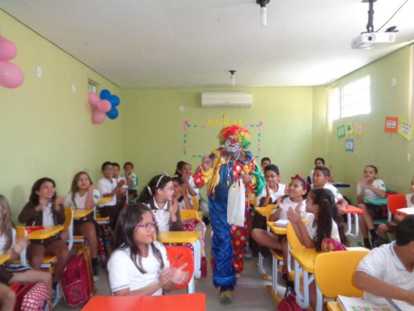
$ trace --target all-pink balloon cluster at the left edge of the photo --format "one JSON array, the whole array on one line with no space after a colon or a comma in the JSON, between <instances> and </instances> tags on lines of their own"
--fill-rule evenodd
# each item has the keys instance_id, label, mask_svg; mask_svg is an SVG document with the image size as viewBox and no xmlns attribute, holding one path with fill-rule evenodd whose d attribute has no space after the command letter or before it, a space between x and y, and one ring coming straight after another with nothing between
<instances>
[{"instance_id":1,"label":"all-pink balloon cluster at the left edge of the photo","mask_svg":"<svg viewBox=\"0 0 414 311\"><path fill-rule=\"evenodd\" d=\"M17 88L23 83L21 69L9 62L16 54L14 43L0 36L0 85L6 88Z\"/></svg>"}]
</instances>

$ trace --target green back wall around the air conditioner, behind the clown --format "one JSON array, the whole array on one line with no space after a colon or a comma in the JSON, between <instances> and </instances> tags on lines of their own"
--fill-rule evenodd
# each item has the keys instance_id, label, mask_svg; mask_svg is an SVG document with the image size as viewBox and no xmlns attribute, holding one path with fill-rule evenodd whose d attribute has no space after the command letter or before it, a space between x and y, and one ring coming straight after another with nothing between
<instances>
[{"instance_id":1,"label":"green back wall around the air conditioner, behind the clown","mask_svg":"<svg viewBox=\"0 0 414 311\"><path fill-rule=\"evenodd\" d=\"M249 91L253 93L253 106L249 109L201 108L201 92ZM320 92L319 92L320 93ZM152 88L121 90L125 113L122 120L124 158L135 164L141 182L140 188L156 173L174 172L175 164L185 160L199 164L198 156L208 154L219 145L217 134L223 126L223 115L230 122L243 124L264 122L262 127L261 157L268 156L279 165L284 182L298 171L311 170L313 88ZM184 111L179 111L179 106ZM183 122L195 124L186 132ZM214 125L201 129L208 120ZM257 127L252 132L250 150L257 154ZM188 153L184 155L184 133ZM193 155L197 156L196 158Z\"/></svg>"}]
</instances>

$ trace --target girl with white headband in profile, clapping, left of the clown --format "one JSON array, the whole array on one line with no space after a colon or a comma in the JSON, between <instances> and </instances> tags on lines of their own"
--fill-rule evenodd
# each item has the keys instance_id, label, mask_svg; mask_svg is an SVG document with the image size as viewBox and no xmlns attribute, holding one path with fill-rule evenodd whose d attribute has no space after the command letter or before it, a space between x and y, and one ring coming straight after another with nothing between
<instances>
[{"instance_id":1,"label":"girl with white headband in profile, clapping, left of the clown","mask_svg":"<svg viewBox=\"0 0 414 311\"><path fill-rule=\"evenodd\" d=\"M164 174L153 177L142 190L138 202L150 207L159 231L183 231L170 177Z\"/></svg>"}]
</instances>

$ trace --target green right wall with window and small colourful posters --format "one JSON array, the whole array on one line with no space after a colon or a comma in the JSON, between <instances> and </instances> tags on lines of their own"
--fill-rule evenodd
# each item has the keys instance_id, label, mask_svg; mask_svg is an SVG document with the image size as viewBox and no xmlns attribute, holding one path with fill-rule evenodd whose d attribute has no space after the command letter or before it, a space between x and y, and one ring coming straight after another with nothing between
<instances>
[{"instance_id":1,"label":"green right wall with window and small colourful posters","mask_svg":"<svg viewBox=\"0 0 414 311\"><path fill-rule=\"evenodd\" d=\"M342 77L334 84L342 86L364 75L371 77L371 113L335 120L332 126L326 124L326 158L333 166L335 180L349 182L353 186L344 191L354 199L353 202L356 182L363 178L363 169L367 164L378 167L379 178L391 189L400 193L408 192L414 175L413 145L397 133L385 133L384 121L386 116L393 116L413 123L410 93L410 85L413 83L411 53L412 46L401 48ZM397 79L395 87L391 87L393 77ZM344 122L362 122L364 135L361 138L348 135L338 140L337 126ZM345 152L346 138L354 139L353 153ZM408 155L411 157L410 161Z\"/></svg>"}]
</instances>

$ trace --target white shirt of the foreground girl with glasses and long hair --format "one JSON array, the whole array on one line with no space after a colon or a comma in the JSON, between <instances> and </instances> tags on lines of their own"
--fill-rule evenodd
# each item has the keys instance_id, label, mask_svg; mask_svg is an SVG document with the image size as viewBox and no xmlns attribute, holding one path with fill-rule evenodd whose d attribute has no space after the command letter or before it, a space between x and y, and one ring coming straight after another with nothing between
<instances>
[{"instance_id":1,"label":"white shirt of the foreground girl with glasses and long hair","mask_svg":"<svg viewBox=\"0 0 414 311\"><path fill-rule=\"evenodd\" d=\"M166 248L159 242L154 242L155 247L161 252L162 260L164 261L164 268L170 267ZM137 256L138 263L138 256ZM116 249L108 261L108 276L110 290L117 292L129 288L132 290L139 290L145 288L158 281L159 273L161 272L161 264L157 257L152 252L152 248L148 246L148 256L141 258L141 267L147 272L142 274L139 272L135 264L130 258L130 249ZM162 294L162 288L159 288L152 296L159 296Z\"/></svg>"}]
</instances>

